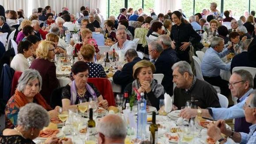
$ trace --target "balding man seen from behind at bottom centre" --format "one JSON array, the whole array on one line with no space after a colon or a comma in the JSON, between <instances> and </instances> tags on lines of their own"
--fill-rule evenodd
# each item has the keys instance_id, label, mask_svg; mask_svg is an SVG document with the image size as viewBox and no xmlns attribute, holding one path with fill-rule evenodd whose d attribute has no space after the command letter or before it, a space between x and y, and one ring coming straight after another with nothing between
<instances>
[{"instance_id":1,"label":"balding man seen from behind at bottom centre","mask_svg":"<svg viewBox=\"0 0 256 144\"><path fill-rule=\"evenodd\" d=\"M125 121L119 115L107 115L96 126L98 144L125 143L127 133Z\"/></svg>"}]
</instances>

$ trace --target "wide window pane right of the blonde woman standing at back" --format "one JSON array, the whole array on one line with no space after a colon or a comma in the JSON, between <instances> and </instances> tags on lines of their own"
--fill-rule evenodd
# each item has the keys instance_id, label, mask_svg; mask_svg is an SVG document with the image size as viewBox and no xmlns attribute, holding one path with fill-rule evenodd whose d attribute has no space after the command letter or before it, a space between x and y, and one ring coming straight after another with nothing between
<instances>
[{"instance_id":1,"label":"wide window pane right of the blonde woman standing at back","mask_svg":"<svg viewBox=\"0 0 256 144\"><path fill-rule=\"evenodd\" d=\"M252 3L256 2L251 1L251 6ZM223 10L232 10L232 17L238 20L243 15L244 11L249 10L248 5L249 0L225 0ZM252 8L255 8L255 5L251 7L251 9Z\"/></svg>"}]
</instances>

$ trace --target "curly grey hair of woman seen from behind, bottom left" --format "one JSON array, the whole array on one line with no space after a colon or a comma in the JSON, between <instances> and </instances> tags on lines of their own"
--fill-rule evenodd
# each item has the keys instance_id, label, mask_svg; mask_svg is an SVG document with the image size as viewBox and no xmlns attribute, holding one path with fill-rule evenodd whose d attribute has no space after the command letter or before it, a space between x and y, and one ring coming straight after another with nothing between
<instances>
[{"instance_id":1,"label":"curly grey hair of woman seen from behind, bottom left","mask_svg":"<svg viewBox=\"0 0 256 144\"><path fill-rule=\"evenodd\" d=\"M23 126L28 131L31 128L43 129L50 122L50 117L46 109L42 106L29 103L19 109L17 124Z\"/></svg>"}]
</instances>

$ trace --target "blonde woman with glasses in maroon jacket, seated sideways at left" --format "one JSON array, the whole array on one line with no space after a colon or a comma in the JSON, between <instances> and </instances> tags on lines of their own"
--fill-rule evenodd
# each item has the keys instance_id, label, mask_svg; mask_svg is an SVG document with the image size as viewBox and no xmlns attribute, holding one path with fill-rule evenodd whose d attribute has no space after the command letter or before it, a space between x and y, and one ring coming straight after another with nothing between
<instances>
[{"instance_id":1,"label":"blonde woman with glasses in maroon jacket, seated sideways at left","mask_svg":"<svg viewBox=\"0 0 256 144\"><path fill-rule=\"evenodd\" d=\"M50 104L50 95L52 91L58 87L56 77L56 66L51 60L54 58L54 42L42 41L36 49L37 58L33 61L30 68L38 70L42 76L42 90L40 94Z\"/></svg>"}]
</instances>

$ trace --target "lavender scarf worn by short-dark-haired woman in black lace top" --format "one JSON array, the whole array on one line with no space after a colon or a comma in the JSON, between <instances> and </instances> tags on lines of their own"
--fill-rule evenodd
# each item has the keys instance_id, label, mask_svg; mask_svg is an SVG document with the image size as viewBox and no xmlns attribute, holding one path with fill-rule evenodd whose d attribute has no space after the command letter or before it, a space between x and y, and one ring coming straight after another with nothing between
<instances>
[{"instance_id":1,"label":"lavender scarf worn by short-dark-haired woman in black lace top","mask_svg":"<svg viewBox=\"0 0 256 144\"><path fill-rule=\"evenodd\" d=\"M85 88L90 93L90 95L93 96L93 98L97 97L95 91L88 83L86 83ZM75 81L72 81L70 92L71 92L70 102L71 102L71 105L74 105L77 101L77 87L76 87Z\"/></svg>"}]
</instances>

